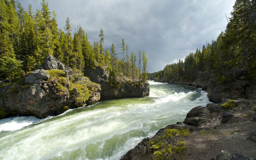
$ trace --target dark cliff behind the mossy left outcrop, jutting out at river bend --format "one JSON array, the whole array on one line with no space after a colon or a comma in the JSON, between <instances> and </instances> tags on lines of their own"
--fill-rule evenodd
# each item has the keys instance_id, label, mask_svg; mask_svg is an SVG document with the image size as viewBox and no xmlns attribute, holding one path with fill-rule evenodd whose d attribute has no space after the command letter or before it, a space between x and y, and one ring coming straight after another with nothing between
<instances>
[{"instance_id":1,"label":"dark cliff behind the mossy left outcrop, jutting out at river bend","mask_svg":"<svg viewBox=\"0 0 256 160\"><path fill-rule=\"evenodd\" d=\"M122 77L118 79L118 87L108 85L108 73L102 67L86 68L84 75L90 80L101 85L101 99L116 99L125 97L145 97L149 95L150 88L148 82L140 82Z\"/></svg>"}]
</instances>

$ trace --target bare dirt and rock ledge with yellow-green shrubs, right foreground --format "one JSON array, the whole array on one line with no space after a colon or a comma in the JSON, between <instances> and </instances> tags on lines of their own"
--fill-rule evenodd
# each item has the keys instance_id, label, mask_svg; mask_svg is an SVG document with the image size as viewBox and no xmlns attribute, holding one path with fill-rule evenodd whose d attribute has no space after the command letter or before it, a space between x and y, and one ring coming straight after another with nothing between
<instances>
[{"instance_id":1,"label":"bare dirt and rock ledge with yellow-green shrubs, right foreground","mask_svg":"<svg viewBox=\"0 0 256 160\"><path fill-rule=\"evenodd\" d=\"M197 106L184 122L145 138L121 159L256 160L255 121L255 100L222 99L219 104Z\"/></svg>"}]
</instances>

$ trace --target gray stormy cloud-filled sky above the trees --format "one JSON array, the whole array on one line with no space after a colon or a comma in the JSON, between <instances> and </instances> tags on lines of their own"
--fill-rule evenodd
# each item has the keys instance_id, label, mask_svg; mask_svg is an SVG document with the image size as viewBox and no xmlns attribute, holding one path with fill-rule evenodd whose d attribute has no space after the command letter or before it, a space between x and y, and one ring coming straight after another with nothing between
<instances>
[{"instance_id":1,"label":"gray stormy cloud-filled sky above the trees","mask_svg":"<svg viewBox=\"0 0 256 160\"><path fill-rule=\"evenodd\" d=\"M46 0L51 12L57 13L58 27L64 29L70 19L73 32L78 25L87 32L90 42L99 40L104 30L104 48L114 43L121 59L122 39L129 53L145 51L148 72L184 59L216 40L227 25L235 0ZM41 0L20 0L28 10L41 9Z\"/></svg>"}]
</instances>

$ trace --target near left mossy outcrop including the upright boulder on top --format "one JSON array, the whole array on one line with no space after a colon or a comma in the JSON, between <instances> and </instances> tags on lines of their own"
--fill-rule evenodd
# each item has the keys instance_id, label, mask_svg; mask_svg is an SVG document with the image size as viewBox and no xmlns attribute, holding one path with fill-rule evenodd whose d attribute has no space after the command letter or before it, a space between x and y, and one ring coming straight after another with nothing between
<instances>
[{"instance_id":1,"label":"near left mossy outcrop including the upright boulder on top","mask_svg":"<svg viewBox=\"0 0 256 160\"><path fill-rule=\"evenodd\" d=\"M51 70L35 70L13 84L0 87L0 118L13 115L46 118L100 100L99 84L86 77L78 78L52 56L47 57L46 64Z\"/></svg>"}]
</instances>

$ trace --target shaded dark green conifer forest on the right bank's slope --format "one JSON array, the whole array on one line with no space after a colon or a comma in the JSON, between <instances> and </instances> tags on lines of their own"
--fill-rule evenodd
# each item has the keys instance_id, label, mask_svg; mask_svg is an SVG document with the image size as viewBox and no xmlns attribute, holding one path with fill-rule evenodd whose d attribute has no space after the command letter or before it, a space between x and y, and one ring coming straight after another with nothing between
<instances>
[{"instance_id":1,"label":"shaded dark green conifer forest on the right bank's slope","mask_svg":"<svg viewBox=\"0 0 256 160\"><path fill-rule=\"evenodd\" d=\"M214 70L219 82L230 82L237 69L245 69L256 79L256 1L237 0L225 32L217 40L203 45L185 60L169 64L163 70L149 73L153 79L194 81L199 71ZM214 25L214 24L213 24ZM225 73L225 74L224 74Z\"/></svg>"}]
</instances>

